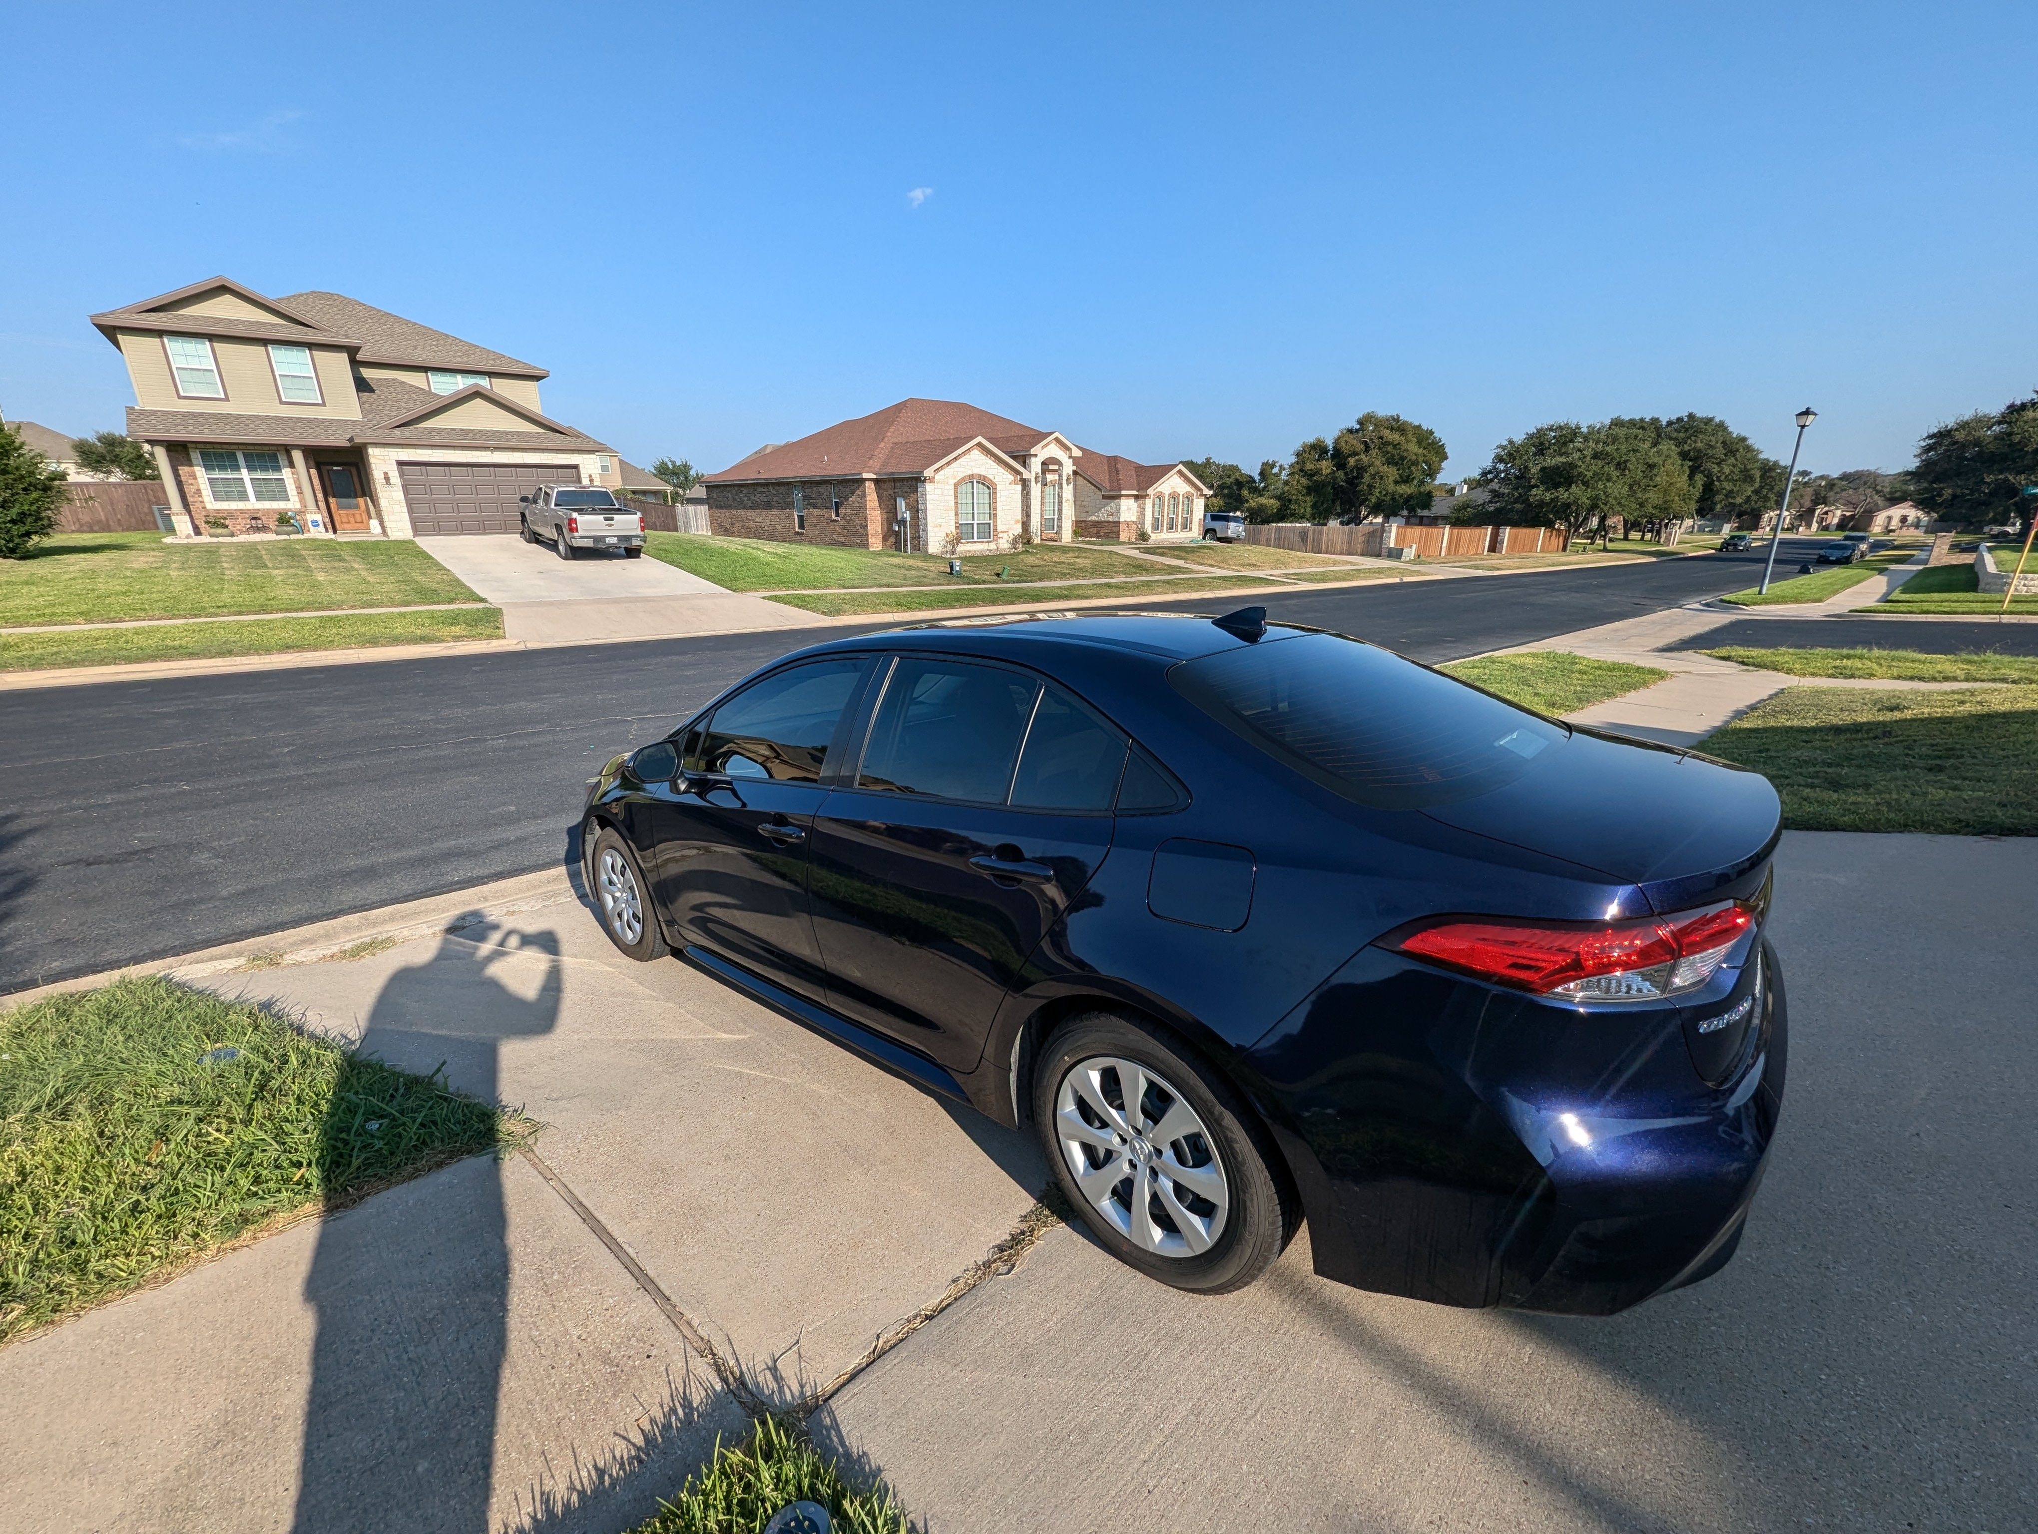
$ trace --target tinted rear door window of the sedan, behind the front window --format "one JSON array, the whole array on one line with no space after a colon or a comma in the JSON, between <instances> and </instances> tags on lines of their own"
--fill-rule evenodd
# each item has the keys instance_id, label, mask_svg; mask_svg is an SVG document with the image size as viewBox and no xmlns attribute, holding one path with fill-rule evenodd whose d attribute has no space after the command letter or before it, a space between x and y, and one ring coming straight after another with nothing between
<instances>
[{"instance_id":1,"label":"tinted rear door window of the sedan, behind the front window","mask_svg":"<svg viewBox=\"0 0 2038 1534\"><path fill-rule=\"evenodd\" d=\"M901 660L858 788L1003 805L1039 682L966 660Z\"/></svg>"}]
</instances>

